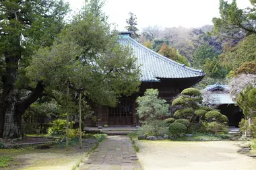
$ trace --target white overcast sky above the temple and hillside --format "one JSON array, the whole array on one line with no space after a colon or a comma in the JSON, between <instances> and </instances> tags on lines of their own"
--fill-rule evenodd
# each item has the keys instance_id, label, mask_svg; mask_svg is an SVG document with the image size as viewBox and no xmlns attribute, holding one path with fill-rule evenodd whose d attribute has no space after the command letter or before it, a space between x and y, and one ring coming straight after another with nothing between
<instances>
[{"instance_id":1,"label":"white overcast sky above the temple and hillside","mask_svg":"<svg viewBox=\"0 0 256 170\"><path fill-rule=\"evenodd\" d=\"M84 0L69 1L73 10L80 9ZM232 1L232 0L230 0ZM250 5L249 0L236 0L238 7ZM125 19L132 12L137 15L137 28L158 25L162 28L183 26L196 28L212 24L212 18L219 16L219 0L106 0L104 12L118 30L125 30Z\"/></svg>"}]
</instances>

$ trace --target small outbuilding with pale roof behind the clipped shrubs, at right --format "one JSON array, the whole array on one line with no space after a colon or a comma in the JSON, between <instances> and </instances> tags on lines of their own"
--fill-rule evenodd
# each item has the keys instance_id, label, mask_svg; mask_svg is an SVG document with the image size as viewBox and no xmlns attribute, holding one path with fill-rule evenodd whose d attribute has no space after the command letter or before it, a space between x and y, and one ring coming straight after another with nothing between
<instances>
[{"instance_id":1,"label":"small outbuilding with pale roof behind the clipped shrubs, at right","mask_svg":"<svg viewBox=\"0 0 256 170\"><path fill-rule=\"evenodd\" d=\"M243 111L232 101L228 85L208 85L202 93L203 100L207 105L215 106L228 117L228 126L238 127L239 122L244 117Z\"/></svg>"}]
</instances>

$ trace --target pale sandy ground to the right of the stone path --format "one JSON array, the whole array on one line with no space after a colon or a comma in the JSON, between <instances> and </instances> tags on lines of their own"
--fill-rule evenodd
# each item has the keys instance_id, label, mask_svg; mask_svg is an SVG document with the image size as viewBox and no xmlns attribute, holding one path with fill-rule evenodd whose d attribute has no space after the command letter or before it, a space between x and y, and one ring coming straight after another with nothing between
<instances>
[{"instance_id":1,"label":"pale sandy ground to the right of the stone path","mask_svg":"<svg viewBox=\"0 0 256 170\"><path fill-rule=\"evenodd\" d=\"M236 142L137 140L137 157L145 170L255 170L256 159L236 153Z\"/></svg>"}]
</instances>

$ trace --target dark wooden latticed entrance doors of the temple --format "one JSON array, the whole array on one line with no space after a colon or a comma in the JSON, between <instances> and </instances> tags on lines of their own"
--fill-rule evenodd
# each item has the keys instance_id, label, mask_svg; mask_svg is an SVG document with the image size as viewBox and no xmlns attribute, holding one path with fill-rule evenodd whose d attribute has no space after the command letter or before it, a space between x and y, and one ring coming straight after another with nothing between
<instances>
[{"instance_id":1,"label":"dark wooden latticed entrance doors of the temple","mask_svg":"<svg viewBox=\"0 0 256 170\"><path fill-rule=\"evenodd\" d=\"M133 124L133 102L131 98L119 99L116 108L109 108L109 125L132 125Z\"/></svg>"}]
</instances>

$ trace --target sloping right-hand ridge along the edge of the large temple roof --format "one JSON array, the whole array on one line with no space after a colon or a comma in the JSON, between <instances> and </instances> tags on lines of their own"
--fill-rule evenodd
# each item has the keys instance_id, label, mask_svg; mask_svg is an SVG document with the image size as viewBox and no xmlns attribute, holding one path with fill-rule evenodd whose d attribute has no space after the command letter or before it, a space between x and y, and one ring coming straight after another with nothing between
<instances>
[{"instance_id":1,"label":"sloping right-hand ridge along the edge of the large temple roof","mask_svg":"<svg viewBox=\"0 0 256 170\"><path fill-rule=\"evenodd\" d=\"M172 64L174 64L174 65L177 65L177 66L179 66L179 67L182 67L182 68L184 68L184 69L187 69L187 70L189 70L189 71L194 71L194 72L197 72L197 73L203 73L203 71L202 70L197 70L197 69L193 69L193 68L191 68L191 67L187 67L186 65L184 65L184 64L181 64L181 63L179 63L179 62L176 62L176 61L174 61L174 60L172 60L172 59L170 59L170 58L167 58L166 56L162 56L161 54L158 54L157 52L155 52L155 51L153 51L153 50L150 50L150 48L147 48L146 46L143 46L142 44L139 44L139 42L137 42L136 40L133 40L133 38L131 38L131 37L128 37L128 38L119 38L120 40L130 40L130 41L132 41L133 43L135 43L137 46L140 46L141 48L144 48L145 50L147 50L148 52L150 52L150 53L152 53L152 54L155 54L156 55L156 57L158 57L158 58L160 58L161 60L164 60L164 61L166 61L166 62L171 62Z\"/></svg>"}]
</instances>

